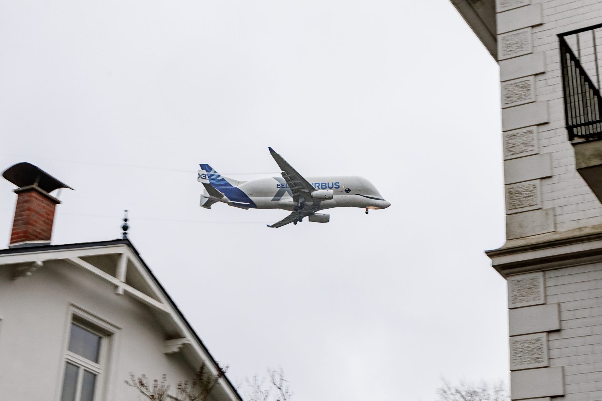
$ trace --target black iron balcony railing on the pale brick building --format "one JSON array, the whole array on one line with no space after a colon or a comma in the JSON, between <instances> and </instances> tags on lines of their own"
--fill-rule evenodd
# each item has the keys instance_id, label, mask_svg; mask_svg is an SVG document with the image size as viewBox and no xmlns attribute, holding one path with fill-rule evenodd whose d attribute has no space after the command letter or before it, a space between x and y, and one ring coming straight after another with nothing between
<instances>
[{"instance_id":1,"label":"black iron balcony railing on the pale brick building","mask_svg":"<svg viewBox=\"0 0 602 401\"><path fill-rule=\"evenodd\" d=\"M570 141L602 139L602 97L596 45L602 42L602 37L597 37L602 35L601 28L602 24L558 35L566 129ZM590 76L595 76L597 85Z\"/></svg>"}]
</instances>

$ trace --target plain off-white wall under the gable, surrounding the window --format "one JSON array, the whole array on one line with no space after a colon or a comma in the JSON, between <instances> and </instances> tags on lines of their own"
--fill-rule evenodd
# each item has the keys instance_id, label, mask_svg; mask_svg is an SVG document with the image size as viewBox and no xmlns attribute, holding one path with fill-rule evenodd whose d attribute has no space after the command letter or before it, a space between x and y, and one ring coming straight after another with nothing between
<instances>
[{"instance_id":1,"label":"plain off-white wall under the gable, surrounding the window","mask_svg":"<svg viewBox=\"0 0 602 401\"><path fill-rule=\"evenodd\" d=\"M172 384L194 370L181 354L163 352L163 329L147 307L114 286L63 261L46 262L33 276L11 280L0 266L0 388L6 400L58 400L64 369L70 305L120 328L115 335L111 372L105 372L105 400L137 399L123 381L128 373Z\"/></svg>"}]
</instances>

